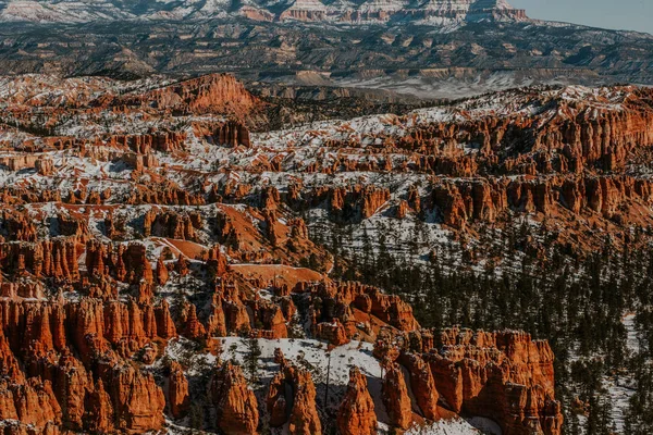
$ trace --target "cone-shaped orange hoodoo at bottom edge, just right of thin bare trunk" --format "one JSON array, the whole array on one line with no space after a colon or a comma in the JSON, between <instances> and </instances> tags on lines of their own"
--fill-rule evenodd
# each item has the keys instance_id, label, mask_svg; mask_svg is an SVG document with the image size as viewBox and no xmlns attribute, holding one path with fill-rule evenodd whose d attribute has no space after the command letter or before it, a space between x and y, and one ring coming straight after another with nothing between
<instances>
[{"instance_id":1,"label":"cone-shaped orange hoodoo at bottom edge, just right of thin bare trunk","mask_svg":"<svg viewBox=\"0 0 653 435\"><path fill-rule=\"evenodd\" d=\"M377 434L374 401L358 368L349 370L349 384L337 414L337 428L342 435Z\"/></svg>"}]
</instances>

